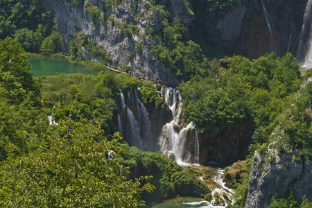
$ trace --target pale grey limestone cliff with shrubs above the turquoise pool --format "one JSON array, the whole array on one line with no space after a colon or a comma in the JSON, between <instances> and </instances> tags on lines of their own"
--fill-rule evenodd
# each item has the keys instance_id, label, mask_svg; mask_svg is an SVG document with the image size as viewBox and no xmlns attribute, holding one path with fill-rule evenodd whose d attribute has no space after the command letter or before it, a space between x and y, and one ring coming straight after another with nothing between
<instances>
[{"instance_id":1,"label":"pale grey limestone cliff with shrubs above the turquoise pool","mask_svg":"<svg viewBox=\"0 0 312 208\"><path fill-rule=\"evenodd\" d=\"M188 28L193 17L187 12L183 1L168 2L170 4L165 5L166 10L172 16L180 17ZM89 40L95 40L98 46L110 53L114 65L127 65L142 78L159 78L176 83L170 69L157 62L151 52L155 44L161 43L146 35L146 27L159 33L162 29L162 18L159 10L148 0L123 0L117 6L105 6L105 1L100 0L85 1L84 5L55 0L45 1L44 7L55 13L55 24L67 44L73 35L84 32ZM141 50L138 49L138 44L141 44Z\"/></svg>"}]
</instances>

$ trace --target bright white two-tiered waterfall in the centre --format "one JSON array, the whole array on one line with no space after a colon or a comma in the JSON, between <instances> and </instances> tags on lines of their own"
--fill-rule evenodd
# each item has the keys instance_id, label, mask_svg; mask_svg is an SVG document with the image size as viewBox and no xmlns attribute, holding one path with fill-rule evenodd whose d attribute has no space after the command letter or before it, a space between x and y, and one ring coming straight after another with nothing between
<instances>
[{"instance_id":1,"label":"bright white two-tiered waterfall in the centre","mask_svg":"<svg viewBox=\"0 0 312 208\"><path fill-rule=\"evenodd\" d=\"M177 89L162 88L162 96L173 113L173 120L166 123L159 137L160 151L177 163L198 163L198 135L193 121L187 126L181 116L182 97Z\"/></svg>"}]
</instances>

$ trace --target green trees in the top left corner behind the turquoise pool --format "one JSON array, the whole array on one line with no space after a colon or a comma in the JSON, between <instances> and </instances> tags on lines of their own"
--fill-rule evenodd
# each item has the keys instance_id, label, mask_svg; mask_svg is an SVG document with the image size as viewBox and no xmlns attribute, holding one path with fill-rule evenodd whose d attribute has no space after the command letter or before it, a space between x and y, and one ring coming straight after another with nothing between
<instances>
[{"instance_id":1,"label":"green trees in the top left corner behind the turquoise pool","mask_svg":"<svg viewBox=\"0 0 312 208\"><path fill-rule=\"evenodd\" d=\"M54 26L54 15L44 10L41 0L5 0L0 8L0 40L13 37L31 53L62 51L62 36Z\"/></svg>"}]
</instances>

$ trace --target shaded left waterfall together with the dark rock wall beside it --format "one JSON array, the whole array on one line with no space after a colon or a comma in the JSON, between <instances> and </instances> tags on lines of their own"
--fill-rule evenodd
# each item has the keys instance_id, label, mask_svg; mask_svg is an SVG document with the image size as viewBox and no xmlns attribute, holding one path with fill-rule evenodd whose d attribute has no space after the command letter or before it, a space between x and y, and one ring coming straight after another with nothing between
<instances>
[{"instance_id":1,"label":"shaded left waterfall together with the dark rock wall beside it","mask_svg":"<svg viewBox=\"0 0 312 208\"><path fill-rule=\"evenodd\" d=\"M162 126L172 119L171 110L159 110L155 103L147 103L146 108L137 91L129 91L127 96L121 92L121 100L122 111L114 116L114 125L119 126L123 139L139 150L159 152L158 137Z\"/></svg>"}]
</instances>

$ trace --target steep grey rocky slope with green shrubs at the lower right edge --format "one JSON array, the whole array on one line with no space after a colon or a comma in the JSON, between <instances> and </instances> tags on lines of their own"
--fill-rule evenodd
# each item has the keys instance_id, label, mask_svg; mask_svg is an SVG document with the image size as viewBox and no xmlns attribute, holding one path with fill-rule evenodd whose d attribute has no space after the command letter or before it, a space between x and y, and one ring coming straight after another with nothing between
<instances>
[{"instance_id":1,"label":"steep grey rocky slope with green shrubs at the lower right edge","mask_svg":"<svg viewBox=\"0 0 312 208\"><path fill-rule=\"evenodd\" d=\"M267 207L272 197L290 190L297 200L304 196L312 200L311 78L304 86L277 118L270 144L254 154L245 207Z\"/></svg>"}]
</instances>

